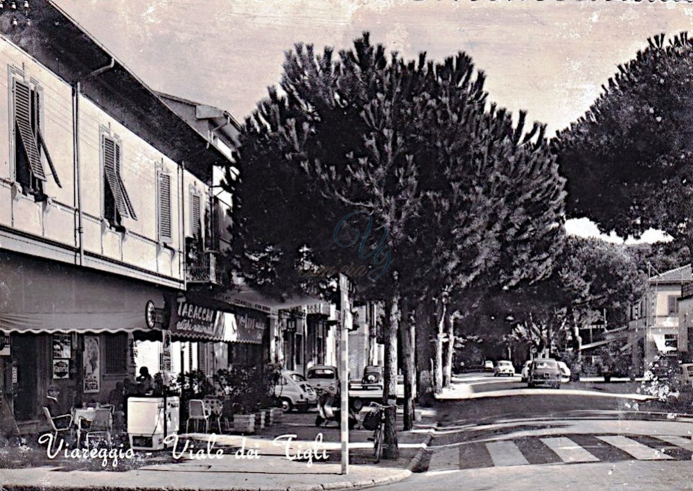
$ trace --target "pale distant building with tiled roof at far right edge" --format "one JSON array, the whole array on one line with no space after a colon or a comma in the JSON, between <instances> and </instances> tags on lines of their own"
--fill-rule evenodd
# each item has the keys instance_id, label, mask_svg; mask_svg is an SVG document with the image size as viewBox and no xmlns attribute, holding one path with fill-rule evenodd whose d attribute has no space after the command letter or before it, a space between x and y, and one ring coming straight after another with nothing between
<instances>
[{"instance_id":1,"label":"pale distant building with tiled roof at far right edge","mask_svg":"<svg viewBox=\"0 0 693 491\"><path fill-rule=\"evenodd\" d=\"M690 264L665 271L650 277L640 300L631 304L628 339L636 370L647 368L659 354L687 356L688 336L685 322L679 323L679 298L690 282Z\"/></svg>"}]
</instances>

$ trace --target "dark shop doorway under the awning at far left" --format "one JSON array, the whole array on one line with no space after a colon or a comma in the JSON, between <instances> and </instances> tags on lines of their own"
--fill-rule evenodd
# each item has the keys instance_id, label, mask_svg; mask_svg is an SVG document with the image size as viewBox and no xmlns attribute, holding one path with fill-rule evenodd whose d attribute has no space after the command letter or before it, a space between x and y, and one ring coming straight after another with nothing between
<instances>
[{"instance_id":1,"label":"dark shop doorway under the awning at far left","mask_svg":"<svg viewBox=\"0 0 693 491\"><path fill-rule=\"evenodd\" d=\"M17 361L15 419L33 420L37 411L37 338L19 334L12 339L12 359Z\"/></svg>"}]
</instances>

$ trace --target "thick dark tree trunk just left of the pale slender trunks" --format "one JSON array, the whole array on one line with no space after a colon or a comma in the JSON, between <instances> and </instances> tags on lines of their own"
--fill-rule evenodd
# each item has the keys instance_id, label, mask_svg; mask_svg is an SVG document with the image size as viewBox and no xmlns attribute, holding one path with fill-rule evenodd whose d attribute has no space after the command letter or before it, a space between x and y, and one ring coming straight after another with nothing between
<instances>
[{"instance_id":1,"label":"thick dark tree trunk just left of the pale slender trunks","mask_svg":"<svg viewBox=\"0 0 693 491\"><path fill-rule=\"evenodd\" d=\"M416 394L419 396L419 404L429 407L435 402L431 343L434 327L433 305L425 298L416 307Z\"/></svg>"}]
</instances>

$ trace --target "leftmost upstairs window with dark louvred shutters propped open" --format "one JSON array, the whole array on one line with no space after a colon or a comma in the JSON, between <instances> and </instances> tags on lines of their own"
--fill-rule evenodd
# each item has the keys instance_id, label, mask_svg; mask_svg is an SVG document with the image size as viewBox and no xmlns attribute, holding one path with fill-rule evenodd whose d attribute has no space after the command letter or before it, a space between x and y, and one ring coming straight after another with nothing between
<instances>
[{"instance_id":1,"label":"leftmost upstairs window with dark louvred shutters propped open","mask_svg":"<svg viewBox=\"0 0 693 491\"><path fill-rule=\"evenodd\" d=\"M42 91L37 85L32 86L19 78L13 78L12 102L15 119L15 180L21 184L22 191L42 199L43 183L46 182L42 156L49 164L55 184L62 187L41 132Z\"/></svg>"}]
</instances>

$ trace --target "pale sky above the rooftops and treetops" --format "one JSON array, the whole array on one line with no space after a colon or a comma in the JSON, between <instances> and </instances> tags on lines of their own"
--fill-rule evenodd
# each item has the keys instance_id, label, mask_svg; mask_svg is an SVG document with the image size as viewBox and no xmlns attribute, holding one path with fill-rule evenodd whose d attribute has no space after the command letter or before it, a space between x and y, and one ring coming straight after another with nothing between
<instances>
[{"instance_id":1,"label":"pale sky above the rooftops and treetops","mask_svg":"<svg viewBox=\"0 0 693 491\"><path fill-rule=\"evenodd\" d=\"M348 48L363 31L405 58L465 51L491 101L547 124L584 114L647 37L693 31L693 4L577 0L55 0L153 89L242 120L295 42ZM589 221L568 231L598 233ZM649 240L662 237L647 234ZM608 238L607 238L608 239ZM611 241L617 241L613 237Z\"/></svg>"}]
</instances>

